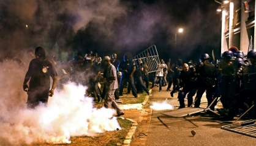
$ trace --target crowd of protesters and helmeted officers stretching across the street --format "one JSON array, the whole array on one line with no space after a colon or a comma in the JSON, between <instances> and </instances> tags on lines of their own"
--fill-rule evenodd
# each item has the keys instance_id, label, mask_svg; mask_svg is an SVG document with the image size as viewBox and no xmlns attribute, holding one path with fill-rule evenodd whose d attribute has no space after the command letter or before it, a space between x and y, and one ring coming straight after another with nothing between
<instances>
[{"instance_id":1,"label":"crowd of protesters and helmeted officers stretching across the street","mask_svg":"<svg viewBox=\"0 0 256 146\"><path fill-rule=\"evenodd\" d=\"M208 108L214 111L218 102L216 99L220 97L224 109L219 110L219 113L224 119L233 119L255 104L255 50L244 55L237 49L230 49L224 52L220 60L203 54L198 63L185 63L179 59L172 64L170 60L167 63L160 60L154 74L149 74L147 63L141 60L135 63L126 54L119 60L117 54L102 58L92 51L85 55L78 53L66 65L54 58L48 61L42 47L37 47L35 54L36 59L29 64L23 86L24 91L28 92L28 106L32 108L39 102L47 103L48 91L52 96L57 86L57 75L59 88L67 81L86 85L86 96L94 97L94 101L99 103L104 100L104 106L115 108L118 116L124 114L116 104L121 102L119 98L123 96L124 88L127 88L126 94L132 91L132 95L137 98L138 93L149 94L149 80L152 82L151 88L159 86L159 91L162 91L162 86L167 86L171 97L178 92L179 108L186 106L186 97L188 107L199 108L201 97L206 92ZM51 89L50 77L54 79ZM42 86L45 87L43 90ZM255 108L248 115L255 118Z\"/></svg>"}]
</instances>

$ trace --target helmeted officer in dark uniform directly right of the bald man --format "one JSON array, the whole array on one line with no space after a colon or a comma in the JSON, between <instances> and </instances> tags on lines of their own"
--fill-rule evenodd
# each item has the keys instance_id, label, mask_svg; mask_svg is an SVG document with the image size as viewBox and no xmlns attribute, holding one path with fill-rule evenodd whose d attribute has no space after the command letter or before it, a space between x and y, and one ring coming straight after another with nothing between
<instances>
[{"instance_id":1,"label":"helmeted officer in dark uniform directly right of the bald man","mask_svg":"<svg viewBox=\"0 0 256 146\"><path fill-rule=\"evenodd\" d=\"M214 100L214 93L216 91L216 77L217 72L213 63L209 62L209 55L203 54L201 56L201 64L197 68L198 72L198 91L197 96L195 97L195 108L199 108L201 103L201 97L206 91L206 99L208 106ZM213 104L210 108L214 110Z\"/></svg>"}]
</instances>

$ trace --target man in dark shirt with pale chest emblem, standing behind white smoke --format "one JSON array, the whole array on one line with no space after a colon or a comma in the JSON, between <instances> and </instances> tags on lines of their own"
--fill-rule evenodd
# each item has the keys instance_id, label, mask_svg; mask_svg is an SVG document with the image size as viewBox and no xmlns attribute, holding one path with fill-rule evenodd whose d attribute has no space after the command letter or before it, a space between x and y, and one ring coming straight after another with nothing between
<instances>
[{"instance_id":1,"label":"man in dark shirt with pale chest emblem, standing behind white smoke","mask_svg":"<svg viewBox=\"0 0 256 146\"><path fill-rule=\"evenodd\" d=\"M42 47L36 47L35 55L36 58L29 63L23 83L24 91L28 92L29 108L35 108L40 102L47 104L48 96L53 96L58 81L55 67L45 57L45 50ZM50 77L53 78L51 89Z\"/></svg>"}]
</instances>

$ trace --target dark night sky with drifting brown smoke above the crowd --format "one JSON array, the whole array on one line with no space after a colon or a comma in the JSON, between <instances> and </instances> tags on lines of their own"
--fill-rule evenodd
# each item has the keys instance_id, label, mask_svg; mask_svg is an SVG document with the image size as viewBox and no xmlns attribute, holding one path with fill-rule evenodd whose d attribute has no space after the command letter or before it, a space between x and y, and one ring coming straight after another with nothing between
<instances>
[{"instance_id":1,"label":"dark night sky with drifting brown smoke above the crowd","mask_svg":"<svg viewBox=\"0 0 256 146\"><path fill-rule=\"evenodd\" d=\"M221 15L214 0L24 0L0 2L0 48L43 46L53 52L137 54L156 44L160 58L197 60L220 49ZM25 28L28 24L28 28ZM183 34L175 33L178 27ZM14 42L14 43L13 43ZM3 51L2 51L3 52ZM56 51L55 51L56 52Z\"/></svg>"}]
</instances>

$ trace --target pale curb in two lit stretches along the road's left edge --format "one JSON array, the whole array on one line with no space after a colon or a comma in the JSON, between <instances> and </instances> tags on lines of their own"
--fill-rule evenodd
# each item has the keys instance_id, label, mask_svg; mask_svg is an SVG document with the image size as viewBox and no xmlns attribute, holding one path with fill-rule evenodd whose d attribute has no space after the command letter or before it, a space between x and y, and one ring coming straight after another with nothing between
<instances>
[{"instance_id":1,"label":"pale curb in two lit stretches along the road's left edge","mask_svg":"<svg viewBox=\"0 0 256 146\"><path fill-rule=\"evenodd\" d=\"M152 92L152 89L149 90L149 96L151 96L151 92ZM143 103L141 103L143 108L145 108L145 106L149 102L149 96L146 96ZM124 139L124 142L122 142L122 146L130 146L132 139L135 138L135 134L136 134L137 127L138 127L138 123L136 121L134 121L132 119L127 119L127 120L130 120L133 123L132 123L132 127L130 127L130 130L128 131L128 133L126 135L126 138Z\"/></svg>"}]
</instances>

